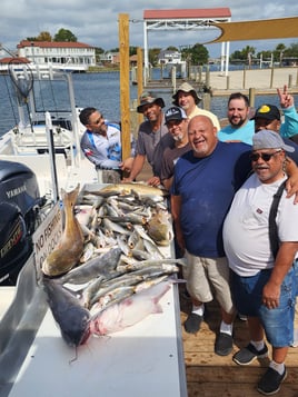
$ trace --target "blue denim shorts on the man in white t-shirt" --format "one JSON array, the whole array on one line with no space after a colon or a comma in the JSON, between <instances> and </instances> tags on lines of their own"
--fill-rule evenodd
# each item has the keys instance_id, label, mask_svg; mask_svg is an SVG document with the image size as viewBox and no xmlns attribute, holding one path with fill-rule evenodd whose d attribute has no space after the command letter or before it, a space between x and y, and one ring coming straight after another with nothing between
<instances>
[{"instance_id":1,"label":"blue denim shorts on the man in white t-shirt","mask_svg":"<svg viewBox=\"0 0 298 397\"><path fill-rule=\"evenodd\" d=\"M284 279L279 306L268 309L262 305L262 288L269 280L271 269L261 270L252 277L241 277L231 271L231 291L238 312L258 317L269 344L275 347L289 346L294 340L296 275L294 266Z\"/></svg>"}]
</instances>

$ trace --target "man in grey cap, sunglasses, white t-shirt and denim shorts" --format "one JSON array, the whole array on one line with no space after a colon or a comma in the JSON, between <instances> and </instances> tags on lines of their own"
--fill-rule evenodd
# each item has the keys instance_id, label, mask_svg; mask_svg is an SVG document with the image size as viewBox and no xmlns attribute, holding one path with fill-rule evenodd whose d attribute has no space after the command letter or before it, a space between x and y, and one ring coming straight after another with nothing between
<instances>
[{"instance_id":1,"label":"man in grey cap, sunglasses, white t-shirt and denim shorts","mask_svg":"<svg viewBox=\"0 0 298 397\"><path fill-rule=\"evenodd\" d=\"M250 335L249 344L232 359L246 366L266 357L266 336L272 359L257 386L264 395L279 390L294 340L298 207L286 199L286 151L294 148L275 131L262 130L252 137L255 172L236 193L224 225L234 302L247 316Z\"/></svg>"}]
</instances>

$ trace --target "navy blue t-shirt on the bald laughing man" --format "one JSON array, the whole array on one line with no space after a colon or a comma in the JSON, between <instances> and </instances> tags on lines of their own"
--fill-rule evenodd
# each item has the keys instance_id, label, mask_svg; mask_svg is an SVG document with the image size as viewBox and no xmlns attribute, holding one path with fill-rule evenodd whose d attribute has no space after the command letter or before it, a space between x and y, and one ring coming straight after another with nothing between
<instances>
[{"instance_id":1,"label":"navy blue t-shirt on the bald laughing man","mask_svg":"<svg viewBox=\"0 0 298 397\"><path fill-rule=\"evenodd\" d=\"M177 161L171 193L181 196L180 222L190 254L225 256L222 224L236 190L251 170L250 149L246 143L219 141L206 158L195 157L191 150Z\"/></svg>"}]
</instances>

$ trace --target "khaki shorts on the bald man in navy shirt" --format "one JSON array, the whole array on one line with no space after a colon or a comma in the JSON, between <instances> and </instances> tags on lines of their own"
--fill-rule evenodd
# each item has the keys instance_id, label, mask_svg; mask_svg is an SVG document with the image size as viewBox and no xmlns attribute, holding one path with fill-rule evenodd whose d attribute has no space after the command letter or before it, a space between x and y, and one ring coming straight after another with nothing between
<instances>
[{"instance_id":1,"label":"khaki shorts on the bald man in navy shirt","mask_svg":"<svg viewBox=\"0 0 298 397\"><path fill-rule=\"evenodd\" d=\"M213 292L220 307L228 314L235 311L229 285L229 265L227 258L202 258L186 251L187 267L183 277L190 296L201 302L213 299Z\"/></svg>"}]
</instances>

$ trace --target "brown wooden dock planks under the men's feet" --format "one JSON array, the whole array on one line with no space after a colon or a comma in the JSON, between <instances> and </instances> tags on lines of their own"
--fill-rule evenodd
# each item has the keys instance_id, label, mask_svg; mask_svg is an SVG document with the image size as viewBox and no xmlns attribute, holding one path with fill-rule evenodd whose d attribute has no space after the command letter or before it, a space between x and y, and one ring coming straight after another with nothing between
<instances>
[{"instance_id":1,"label":"brown wooden dock planks under the men's feet","mask_svg":"<svg viewBox=\"0 0 298 397\"><path fill-rule=\"evenodd\" d=\"M190 302L180 295L181 327L190 310ZM298 315L297 315L298 317ZM268 366L269 359L254 361L249 366L238 366L232 355L248 344L249 336L246 321L235 321L235 344L232 353L227 357L213 353L216 334L220 325L218 304L207 305L207 314L197 335L187 334L182 327L185 365L187 374L188 397L257 397L260 394L256 385ZM296 319L298 328L298 318ZM270 351L270 350L269 350ZM291 347L287 357L288 376L281 390L275 396L298 396L298 347Z\"/></svg>"}]
</instances>

